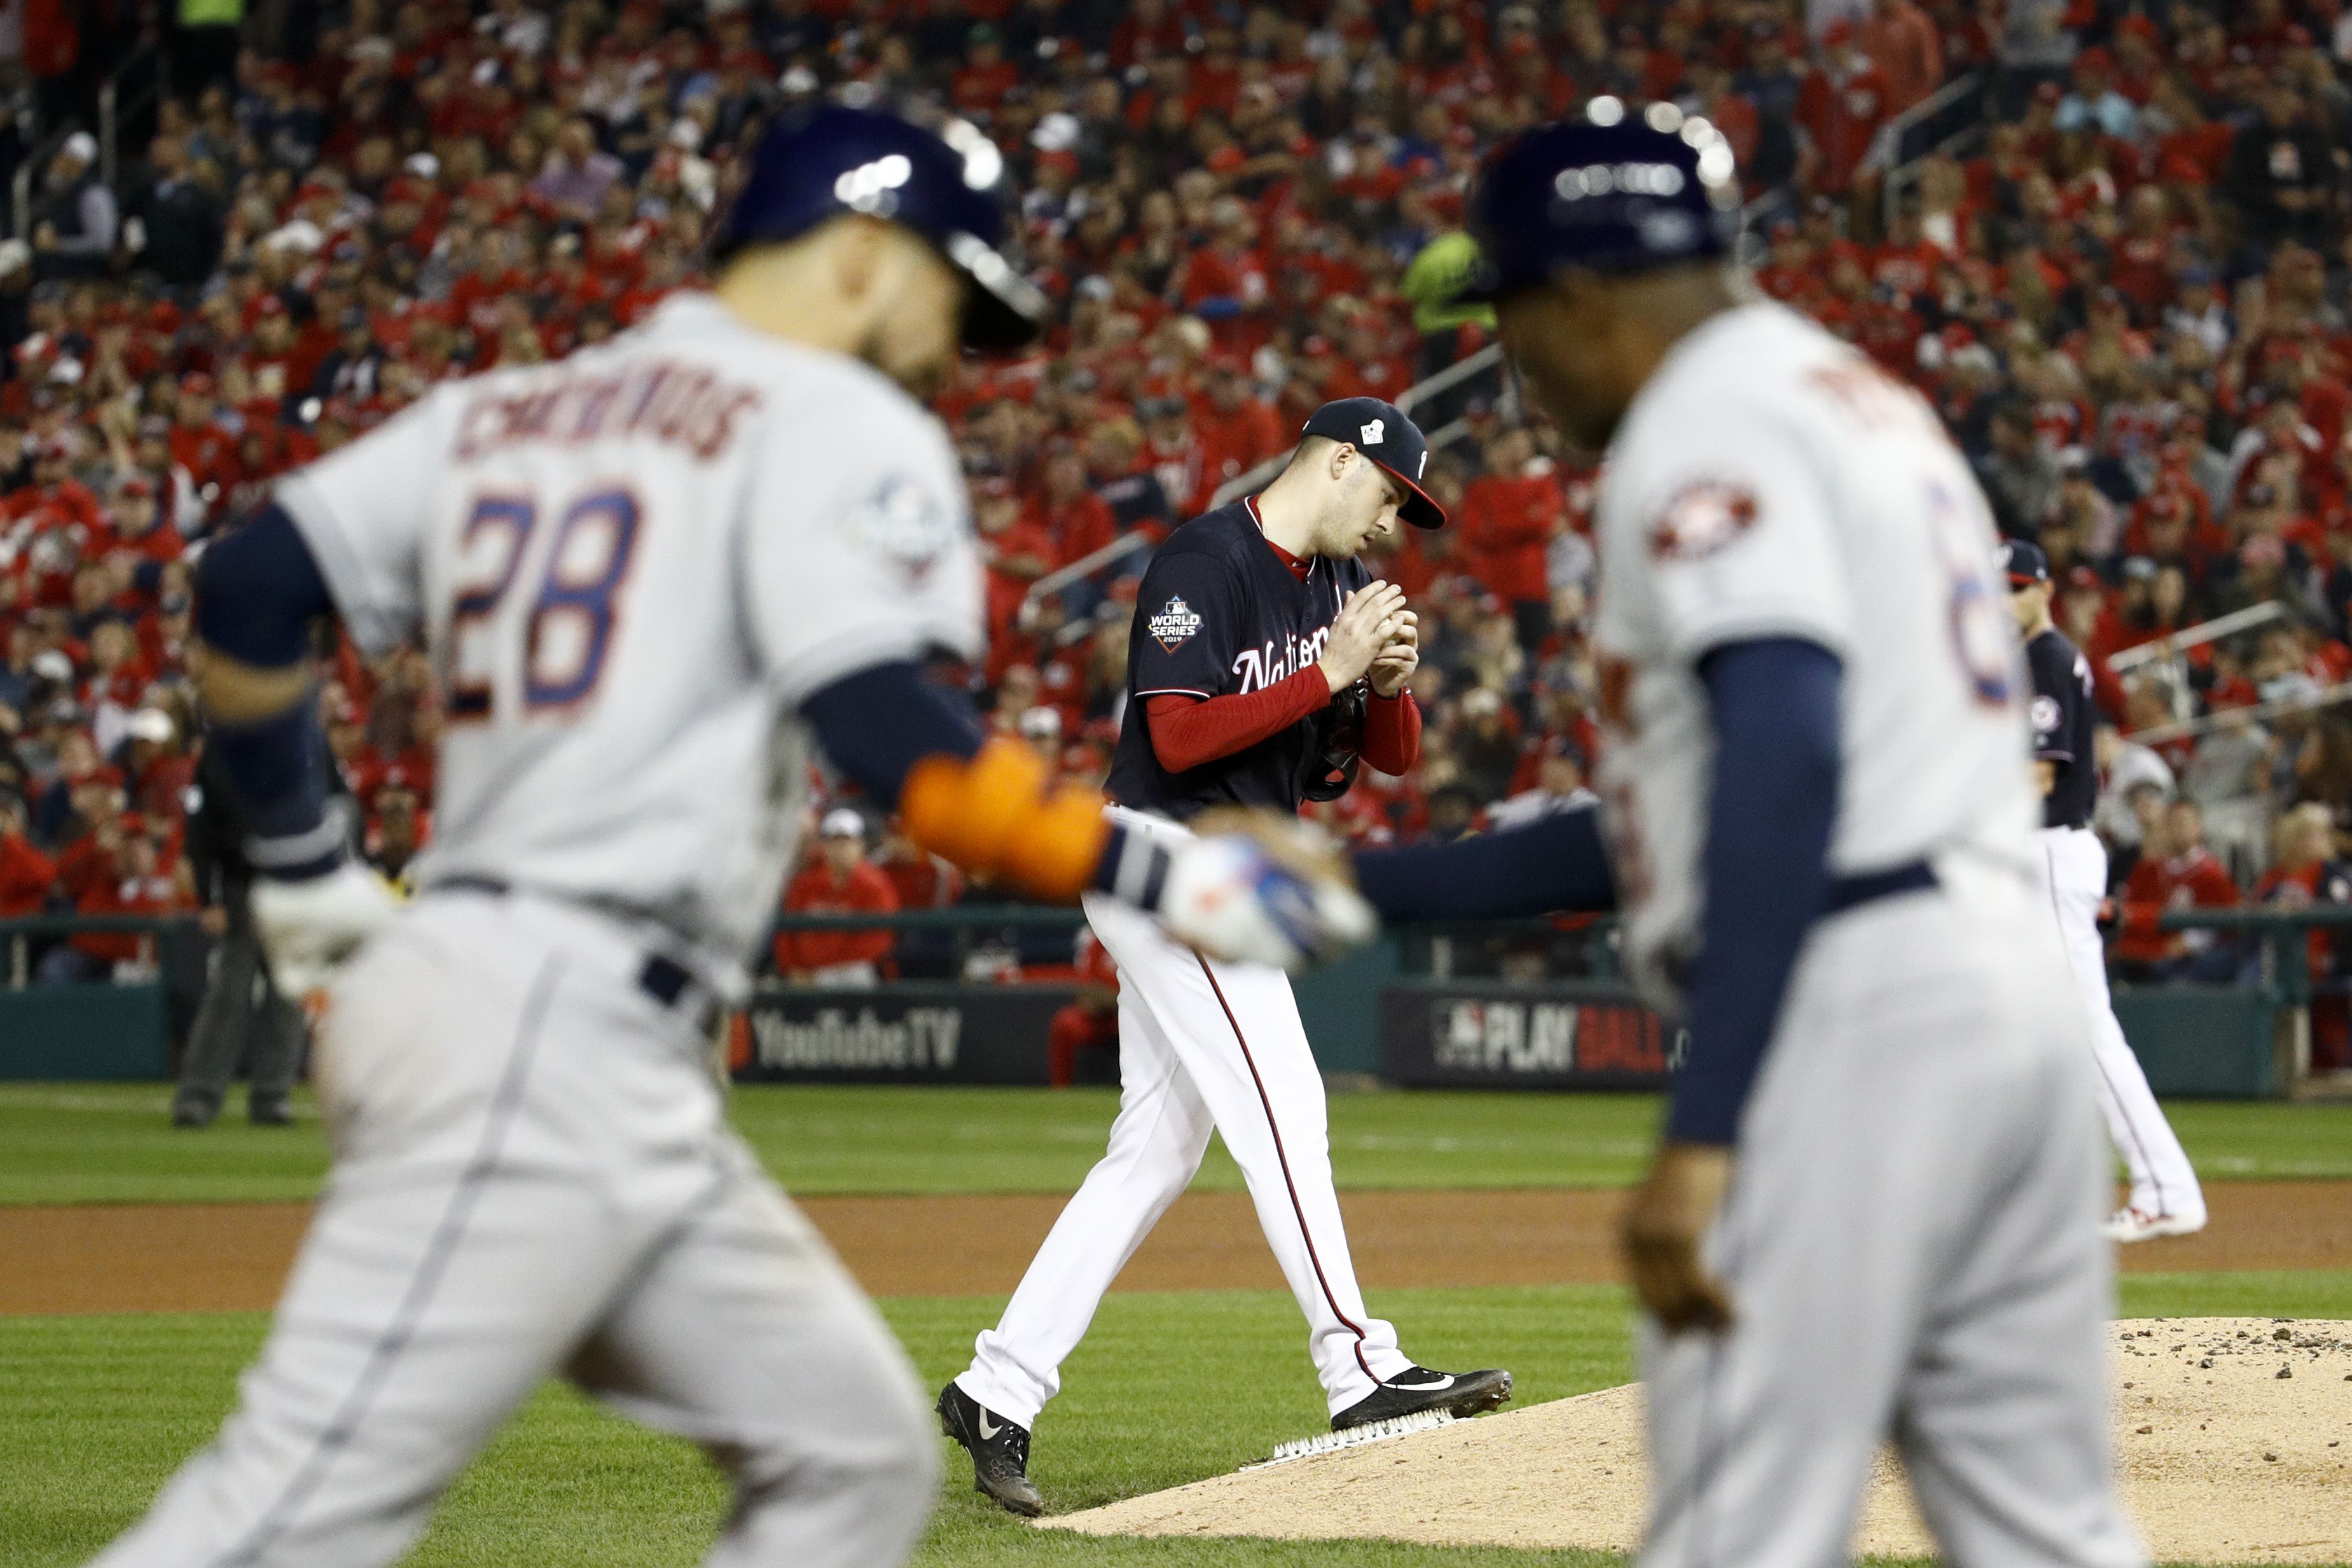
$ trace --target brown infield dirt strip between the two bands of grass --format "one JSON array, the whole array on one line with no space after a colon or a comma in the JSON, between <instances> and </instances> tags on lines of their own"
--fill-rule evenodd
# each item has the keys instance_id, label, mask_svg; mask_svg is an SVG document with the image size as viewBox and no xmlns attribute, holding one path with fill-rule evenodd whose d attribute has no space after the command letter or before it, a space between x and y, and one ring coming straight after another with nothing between
<instances>
[{"instance_id":1,"label":"brown infield dirt strip between the two bands of grass","mask_svg":"<svg viewBox=\"0 0 2352 1568\"><path fill-rule=\"evenodd\" d=\"M2126 1269L2352 1269L2352 1182L2216 1182L2197 1237L2122 1248ZM802 1208L873 1295L1004 1295L1058 1194L816 1197ZM1348 1192L1369 1288L1618 1279L1613 1190ZM252 1312L278 1298L308 1204L0 1208L0 1314ZM1279 1291L1240 1192L1176 1201L1120 1291Z\"/></svg>"}]
</instances>

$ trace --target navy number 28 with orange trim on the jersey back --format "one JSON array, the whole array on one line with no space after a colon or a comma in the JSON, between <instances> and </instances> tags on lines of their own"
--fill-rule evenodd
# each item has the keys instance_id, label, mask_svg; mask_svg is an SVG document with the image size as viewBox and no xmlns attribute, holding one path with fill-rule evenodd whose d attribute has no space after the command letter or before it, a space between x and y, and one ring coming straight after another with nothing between
<instances>
[{"instance_id":1,"label":"navy number 28 with orange trim on the jersey back","mask_svg":"<svg viewBox=\"0 0 2352 1568\"><path fill-rule=\"evenodd\" d=\"M555 522L539 595L522 623L522 710L564 710L604 675L616 599L637 548L637 498L623 487L590 491ZM529 496L480 496L459 531L461 588L449 607L449 719L492 715L499 607L515 585L539 527Z\"/></svg>"}]
</instances>

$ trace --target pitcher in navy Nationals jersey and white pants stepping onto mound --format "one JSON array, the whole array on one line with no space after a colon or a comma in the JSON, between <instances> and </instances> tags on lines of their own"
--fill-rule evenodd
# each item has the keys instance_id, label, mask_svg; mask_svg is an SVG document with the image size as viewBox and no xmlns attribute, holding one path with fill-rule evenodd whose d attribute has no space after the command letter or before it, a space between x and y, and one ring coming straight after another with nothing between
<instances>
[{"instance_id":1,"label":"pitcher in navy Nationals jersey and white pants stepping onto mound","mask_svg":"<svg viewBox=\"0 0 2352 1568\"><path fill-rule=\"evenodd\" d=\"M1388 773L1414 764L1416 618L1355 557L1399 517L1444 524L1421 491L1425 465L1428 442L1392 404L1329 402L1263 494L1160 548L1136 595L1110 764L1110 816L1131 835L1185 844L1185 823L1218 806L1296 816L1310 792L1345 790L1357 755ZM1110 1281L1192 1182L1211 1131L1305 1312L1334 1429L1503 1403L1510 1373L1414 1366L1364 1309L1331 1190L1322 1072L1282 971L1202 957L1115 898L1084 905L1120 966L1120 1117L1004 1319L938 1394L974 1486L1016 1514L1042 1512L1028 1476L1037 1415Z\"/></svg>"}]
</instances>

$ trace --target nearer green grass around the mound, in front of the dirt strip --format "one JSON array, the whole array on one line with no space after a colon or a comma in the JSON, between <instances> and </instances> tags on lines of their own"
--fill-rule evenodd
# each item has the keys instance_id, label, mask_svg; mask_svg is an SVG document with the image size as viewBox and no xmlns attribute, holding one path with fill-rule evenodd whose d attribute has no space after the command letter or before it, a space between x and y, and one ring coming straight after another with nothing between
<instances>
[{"instance_id":1,"label":"nearer green grass around the mound, in front of the dirt strip","mask_svg":"<svg viewBox=\"0 0 2352 1568\"><path fill-rule=\"evenodd\" d=\"M1002 1298L884 1302L927 1387L962 1368ZM1503 1361L1519 1399L1611 1387L1632 1375L1625 1298L1609 1286L1548 1291L1385 1291L1374 1309L1439 1366ZM2352 1316L2352 1274L2136 1274L2131 1316ZM233 1399L261 1340L259 1314L0 1319L0 1563L78 1563L136 1519L172 1467ZM1315 1432L1322 1399L1287 1295L1197 1291L1112 1295L1065 1368L1040 1425L1033 1474L1054 1509L1178 1486L1263 1458ZM1291 1542L1103 1542L1037 1533L969 1490L962 1453L941 1443L948 1493L922 1563L1152 1563L1258 1568L1534 1566L1559 1556ZM419 1568L492 1563L694 1563L724 1493L701 1455L550 1387L466 1472L412 1559Z\"/></svg>"}]
</instances>

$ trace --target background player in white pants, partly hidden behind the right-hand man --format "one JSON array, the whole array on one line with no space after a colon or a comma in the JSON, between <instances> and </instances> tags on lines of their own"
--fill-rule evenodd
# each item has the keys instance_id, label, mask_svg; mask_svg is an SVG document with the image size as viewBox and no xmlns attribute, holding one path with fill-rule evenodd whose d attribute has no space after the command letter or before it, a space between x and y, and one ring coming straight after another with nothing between
<instances>
[{"instance_id":1,"label":"background player in white pants, partly hidden behind the right-hand man","mask_svg":"<svg viewBox=\"0 0 2352 1568\"><path fill-rule=\"evenodd\" d=\"M2154 1091L2107 997L2107 943L2098 907L2107 900L2107 846L2091 832L2098 804L2098 759L2091 755L2091 665L2051 623L2051 564L2042 545L2002 545L2009 609L2025 639L2032 677L2034 783L2042 788L2042 832L2034 835L2034 875L2065 938L2067 969L2091 1020L2093 1088L2107 1138L2131 1171L2131 1197L2107 1220L2114 1241L2187 1237L2204 1229L2204 1187L2187 1152L2164 1119Z\"/></svg>"}]
</instances>

